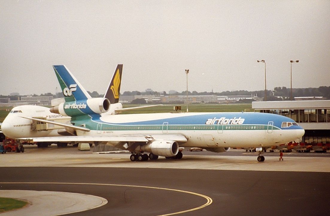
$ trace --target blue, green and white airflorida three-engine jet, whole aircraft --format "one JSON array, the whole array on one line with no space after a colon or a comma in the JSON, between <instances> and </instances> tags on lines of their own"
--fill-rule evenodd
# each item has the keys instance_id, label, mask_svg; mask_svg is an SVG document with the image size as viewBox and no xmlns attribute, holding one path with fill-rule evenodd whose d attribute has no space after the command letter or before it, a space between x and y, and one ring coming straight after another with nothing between
<instances>
[{"instance_id":1,"label":"blue, green and white airflorida three-engine jet, whole aircraft","mask_svg":"<svg viewBox=\"0 0 330 216\"><path fill-rule=\"evenodd\" d=\"M226 152L230 147L279 146L299 139L304 129L290 118L269 113L152 113L101 115L110 107L107 98L89 98L64 65L53 66L63 92L71 89L66 102L51 111L71 116L71 124L58 124L77 136L39 137L33 141L85 142L113 145L132 152L131 161L182 158L180 147L200 147ZM27 118L48 123L46 120ZM28 138L27 138L28 139ZM149 153L149 156L145 153ZM264 161L258 156L259 162Z\"/></svg>"}]
</instances>

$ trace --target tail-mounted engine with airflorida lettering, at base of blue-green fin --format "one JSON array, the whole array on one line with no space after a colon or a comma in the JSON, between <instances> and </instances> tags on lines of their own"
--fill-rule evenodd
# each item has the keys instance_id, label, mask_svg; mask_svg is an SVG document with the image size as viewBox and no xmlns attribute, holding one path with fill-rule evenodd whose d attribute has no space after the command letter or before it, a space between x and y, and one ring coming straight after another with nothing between
<instances>
[{"instance_id":1,"label":"tail-mounted engine with airflorida lettering, at base of blue-green fin","mask_svg":"<svg viewBox=\"0 0 330 216\"><path fill-rule=\"evenodd\" d=\"M90 98L87 100L77 100L60 103L51 107L50 112L61 114L62 116L81 116L105 113L110 108L110 101L107 98Z\"/></svg>"}]
</instances>

